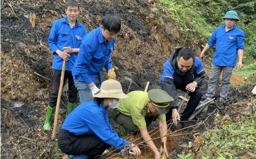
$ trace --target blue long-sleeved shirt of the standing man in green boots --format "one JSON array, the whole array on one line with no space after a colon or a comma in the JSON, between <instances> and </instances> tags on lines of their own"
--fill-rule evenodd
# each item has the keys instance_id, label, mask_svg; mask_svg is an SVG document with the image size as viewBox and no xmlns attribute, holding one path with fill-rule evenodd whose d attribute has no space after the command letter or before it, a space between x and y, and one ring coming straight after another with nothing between
<instances>
[{"instance_id":1,"label":"blue long-sleeved shirt of the standing man in green boots","mask_svg":"<svg viewBox=\"0 0 256 159\"><path fill-rule=\"evenodd\" d=\"M63 59L59 57L56 50L63 52L63 47L79 48L87 29L81 22L76 22L74 27L70 27L68 16L53 22L50 35L48 37L48 45L54 55L53 69L61 70ZM77 53L71 53L70 59L66 62L66 70L71 71L76 61Z\"/></svg>"}]
</instances>

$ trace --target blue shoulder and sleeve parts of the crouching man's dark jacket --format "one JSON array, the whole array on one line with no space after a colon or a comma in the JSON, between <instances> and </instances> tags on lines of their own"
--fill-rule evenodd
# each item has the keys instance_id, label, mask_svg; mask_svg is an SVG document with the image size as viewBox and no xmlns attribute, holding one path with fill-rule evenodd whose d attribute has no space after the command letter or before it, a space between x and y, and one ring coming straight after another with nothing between
<instances>
[{"instance_id":1,"label":"blue shoulder and sleeve parts of the crouching man's dark jacket","mask_svg":"<svg viewBox=\"0 0 256 159\"><path fill-rule=\"evenodd\" d=\"M196 69L196 72L197 74L201 73L201 71L203 71L203 63L201 62L201 60L195 56L195 63L194 65L197 67ZM161 84L164 84L165 82L165 77L169 77L171 79L173 79L173 73L174 73L174 69L170 63L170 59L168 59L166 62L165 62L165 65L164 65L164 71L162 72L162 75L160 77L160 83Z\"/></svg>"}]
</instances>

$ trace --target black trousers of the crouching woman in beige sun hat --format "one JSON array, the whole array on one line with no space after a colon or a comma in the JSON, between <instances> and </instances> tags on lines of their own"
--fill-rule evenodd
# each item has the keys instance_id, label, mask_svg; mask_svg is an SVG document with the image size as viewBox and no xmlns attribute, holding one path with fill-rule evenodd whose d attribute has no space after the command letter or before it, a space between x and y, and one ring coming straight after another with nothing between
<instances>
[{"instance_id":1,"label":"black trousers of the crouching woman in beige sun hat","mask_svg":"<svg viewBox=\"0 0 256 159\"><path fill-rule=\"evenodd\" d=\"M68 155L85 155L88 158L97 158L110 147L96 135L74 135L68 130L60 129L58 145L61 152Z\"/></svg>"}]
</instances>

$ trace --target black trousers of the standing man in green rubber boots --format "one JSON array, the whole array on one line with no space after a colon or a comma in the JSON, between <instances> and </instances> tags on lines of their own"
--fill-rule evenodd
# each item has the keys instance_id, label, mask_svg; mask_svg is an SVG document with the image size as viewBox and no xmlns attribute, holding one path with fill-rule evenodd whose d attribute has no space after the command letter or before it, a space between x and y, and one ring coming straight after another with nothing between
<instances>
[{"instance_id":1,"label":"black trousers of the standing man in green rubber boots","mask_svg":"<svg viewBox=\"0 0 256 159\"><path fill-rule=\"evenodd\" d=\"M76 90L76 86L74 86L74 80L73 80L71 71L65 71L63 85L65 85L67 79L68 79L68 102L76 103L78 91ZM53 88L51 90L51 94L48 99L48 104L51 107L56 106L58 93L59 93L60 80L61 80L61 70L54 69L53 78L52 78Z\"/></svg>"}]
</instances>

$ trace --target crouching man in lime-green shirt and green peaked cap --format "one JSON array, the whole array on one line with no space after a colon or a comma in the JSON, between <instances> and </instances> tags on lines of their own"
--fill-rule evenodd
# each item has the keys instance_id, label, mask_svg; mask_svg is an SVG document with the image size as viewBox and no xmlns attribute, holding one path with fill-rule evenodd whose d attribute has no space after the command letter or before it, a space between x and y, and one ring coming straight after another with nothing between
<instances>
[{"instance_id":1,"label":"crouching man in lime-green shirt and green peaked cap","mask_svg":"<svg viewBox=\"0 0 256 159\"><path fill-rule=\"evenodd\" d=\"M165 90L152 89L149 92L132 91L128 98L120 99L117 112L113 120L123 126L128 132L139 132L145 143L154 152L155 158L160 158L160 152L147 132L147 126L158 118L161 140L165 143L164 151L167 151L167 122L165 113L171 107L173 98Z\"/></svg>"}]
</instances>

